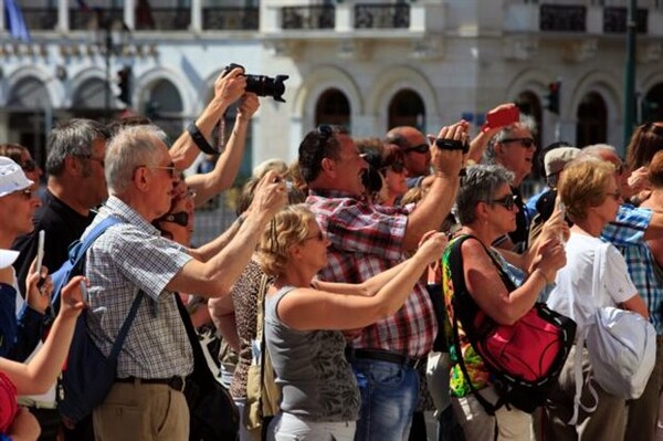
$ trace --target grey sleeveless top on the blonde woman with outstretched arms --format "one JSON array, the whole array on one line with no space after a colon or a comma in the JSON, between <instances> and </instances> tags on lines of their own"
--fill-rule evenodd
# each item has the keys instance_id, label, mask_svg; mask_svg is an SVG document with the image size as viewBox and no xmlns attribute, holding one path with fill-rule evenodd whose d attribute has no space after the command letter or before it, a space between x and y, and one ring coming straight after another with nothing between
<instances>
[{"instance_id":1,"label":"grey sleeveless top on the blonde woman with outstretched arms","mask_svg":"<svg viewBox=\"0 0 663 441\"><path fill-rule=\"evenodd\" d=\"M276 314L285 286L265 298L265 340L282 389L281 409L313 422L355 421L360 396L339 330L296 330Z\"/></svg>"}]
</instances>

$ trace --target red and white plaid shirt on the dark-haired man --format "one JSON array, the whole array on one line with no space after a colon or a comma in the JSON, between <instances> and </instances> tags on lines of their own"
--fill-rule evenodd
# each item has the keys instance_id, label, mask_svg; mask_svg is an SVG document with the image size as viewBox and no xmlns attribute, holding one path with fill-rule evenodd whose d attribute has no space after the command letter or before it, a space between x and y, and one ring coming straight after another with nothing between
<instances>
[{"instance_id":1,"label":"red and white plaid shirt on the dark-haired man","mask_svg":"<svg viewBox=\"0 0 663 441\"><path fill-rule=\"evenodd\" d=\"M337 191L312 191L306 202L332 242L320 280L360 283L406 260L402 241L409 209L370 206ZM425 287L417 283L391 317L365 327L350 346L383 349L420 358L438 333Z\"/></svg>"}]
</instances>

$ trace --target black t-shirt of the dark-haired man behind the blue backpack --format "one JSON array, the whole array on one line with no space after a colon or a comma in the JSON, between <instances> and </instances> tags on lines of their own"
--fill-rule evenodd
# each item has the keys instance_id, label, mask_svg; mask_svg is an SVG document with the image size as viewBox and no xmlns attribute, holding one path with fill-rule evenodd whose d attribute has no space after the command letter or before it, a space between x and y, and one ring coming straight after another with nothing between
<instances>
[{"instance_id":1,"label":"black t-shirt of the dark-haired man behind the blue backpack","mask_svg":"<svg viewBox=\"0 0 663 441\"><path fill-rule=\"evenodd\" d=\"M12 245L12 249L20 251L14 269L23 295L25 295L25 276L36 255L39 231L45 231L43 265L49 269L49 273L54 273L66 261L70 244L81 238L93 219L93 212L82 216L49 190L44 192L42 206L34 214L34 231L18 238Z\"/></svg>"}]
</instances>

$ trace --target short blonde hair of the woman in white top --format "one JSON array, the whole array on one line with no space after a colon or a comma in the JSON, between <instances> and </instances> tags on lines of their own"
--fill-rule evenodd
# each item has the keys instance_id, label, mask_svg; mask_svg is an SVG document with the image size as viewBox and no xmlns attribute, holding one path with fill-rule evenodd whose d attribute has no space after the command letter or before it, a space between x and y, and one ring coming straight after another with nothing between
<instances>
[{"instance_id":1,"label":"short blonde hair of the woman in white top","mask_svg":"<svg viewBox=\"0 0 663 441\"><path fill-rule=\"evenodd\" d=\"M606 199L606 188L614 179L614 165L592 157L569 162L559 179L559 196L573 222L585 220L590 207Z\"/></svg>"}]
</instances>

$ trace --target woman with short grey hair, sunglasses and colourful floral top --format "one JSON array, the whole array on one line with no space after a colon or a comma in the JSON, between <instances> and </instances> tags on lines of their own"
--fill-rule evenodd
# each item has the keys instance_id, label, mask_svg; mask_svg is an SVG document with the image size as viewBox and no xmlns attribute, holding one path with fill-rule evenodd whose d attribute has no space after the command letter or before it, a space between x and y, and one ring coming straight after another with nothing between
<instances>
[{"instance_id":1,"label":"woman with short grey hair, sunglasses and colourful floral top","mask_svg":"<svg viewBox=\"0 0 663 441\"><path fill-rule=\"evenodd\" d=\"M449 326L453 326L451 317L455 314L453 297L459 294L469 295L472 301L466 302L472 305L472 311L465 313L476 317L483 313L497 324L513 324L532 309L539 293L555 280L557 270L566 262L562 245L557 240L543 239L541 245L533 251L532 263L523 269L528 270L527 279L513 281L506 275L507 263L491 244L516 228L518 208L511 190L512 180L513 174L496 165L478 165L466 170L456 198L456 214L462 227L450 242L450 246L460 246L462 260L456 261L445 253L442 262L445 274L460 265L466 285L465 292L444 290ZM555 230L549 228L547 231ZM464 240L456 244L461 238ZM482 397L494 405L499 398L498 388L466 339L462 325L459 325L459 335L460 348L451 334L446 339L451 348L452 406L465 439L484 441L497 434L499 440L529 440L532 417L528 413L503 406L492 416L474 397L472 389L480 390ZM470 378L463 375L459 356L463 358Z\"/></svg>"}]
</instances>

